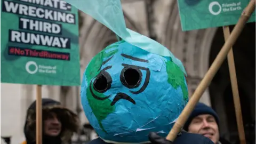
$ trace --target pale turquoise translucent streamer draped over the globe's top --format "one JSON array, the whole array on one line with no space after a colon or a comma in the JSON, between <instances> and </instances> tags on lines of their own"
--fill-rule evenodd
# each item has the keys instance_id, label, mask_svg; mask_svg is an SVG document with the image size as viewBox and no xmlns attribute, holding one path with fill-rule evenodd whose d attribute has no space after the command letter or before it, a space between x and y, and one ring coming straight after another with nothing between
<instances>
[{"instance_id":1,"label":"pale turquoise translucent streamer draped over the globe's top","mask_svg":"<svg viewBox=\"0 0 256 144\"><path fill-rule=\"evenodd\" d=\"M75 6L77 9L86 14L91 15L95 20L99 21L116 35L124 39L124 41L135 45L150 53L171 57L173 62L180 67L185 75L186 70L182 62L175 58L174 55L162 44L143 36L131 29L126 28L122 5L120 0L64 0Z\"/></svg>"}]
</instances>

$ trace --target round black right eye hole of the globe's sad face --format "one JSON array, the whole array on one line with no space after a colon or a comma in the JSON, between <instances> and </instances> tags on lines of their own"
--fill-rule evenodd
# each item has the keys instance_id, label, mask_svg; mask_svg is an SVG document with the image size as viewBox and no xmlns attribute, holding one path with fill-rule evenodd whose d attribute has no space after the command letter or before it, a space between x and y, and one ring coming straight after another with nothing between
<instances>
[{"instance_id":1,"label":"round black right eye hole of the globe's sad face","mask_svg":"<svg viewBox=\"0 0 256 144\"><path fill-rule=\"evenodd\" d=\"M125 67L121 71L120 81L125 87L129 89L138 87L141 83L141 79L142 79L142 73L139 69Z\"/></svg>"}]
</instances>

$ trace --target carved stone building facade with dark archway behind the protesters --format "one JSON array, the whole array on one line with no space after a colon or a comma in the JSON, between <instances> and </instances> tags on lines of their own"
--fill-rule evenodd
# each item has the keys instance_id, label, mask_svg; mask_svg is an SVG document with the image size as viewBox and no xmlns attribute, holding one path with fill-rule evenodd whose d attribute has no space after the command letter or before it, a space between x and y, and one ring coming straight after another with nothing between
<instances>
[{"instance_id":1,"label":"carved stone building facade with dark archway behind the protesters","mask_svg":"<svg viewBox=\"0 0 256 144\"><path fill-rule=\"evenodd\" d=\"M224 43L222 29L182 31L177 0L122 0L122 6L127 28L156 39L183 62L188 74L187 84L191 97ZM89 15L83 12L79 14L82 79L83 72L92 57L117 39L111 30ZM245 125L253 121L255 124L255 23L246 25L242 35L234 46L234 55L243 115L247 113L244 118ZM238 135L229 79L228 65L225 62L200 101L217 111L221 122L221 135L232 140ZM26 109L35 100L36 86L17 84L1 84L1 86L5 87L1 91L1 135L13 135L13 142L17 143L23 139ZM17 92L13 92L14 89ZM79 87L43 86L43 97L60 100L64 105L80 113L82 123L86 123L79 91ZM10 105L11 101L15 101L15 104ZM11 109L13 112L3 109ZM232 112L228 112L230 110ZM19 114L14 116L15 113ZM18 119L19 129L17 127L10 129L12 124L9 119L13 118Z\"/></svg>"}]
</instances>

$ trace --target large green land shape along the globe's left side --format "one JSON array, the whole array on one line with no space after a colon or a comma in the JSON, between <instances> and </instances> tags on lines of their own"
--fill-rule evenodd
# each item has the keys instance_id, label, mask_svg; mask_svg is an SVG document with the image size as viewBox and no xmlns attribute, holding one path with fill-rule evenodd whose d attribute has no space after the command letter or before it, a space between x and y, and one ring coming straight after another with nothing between
<instances>
[{"instance_id":1,"label":"large green land shape along the globe's left side","mask_svg":"<svg viewBox=\"0 0 256 144\"><path fill-rule=\"evenodd\" d=\"M124 41L120 41L113 45L109 45L104 50L102 50L100 53L95 55L95 57L91 60L91 62L89 63L89 65L87 66L86 71L85 71L85 75L87 78L87 84L89 85L86 90L87 100L89 102L89 105L92 109L93 114L95 115L95 117L98 120L98 123L99 123L101 129L105 132L106 132L106 130L104 129L101 121L103 119L105 119L110 113L113 113L115 111L115 106L110 106L111 101L109 99L97 100L97 99L93 98L92 93L90 91L90 86L91 86L90 82L92 81L92 79L95 76L97 76L100 73L99 69L101 68L103 59L111 57L112 55L117 53L118 49L115 49L115 48L117 48L119 46L119 44L121 44L123 42ZM114 48L115 50L106 52L106 50L111 49L111 48ZM98 97L102 97L102 98L107 97L103 93L99 93L99 92L95 91L93 89L93 87L92 87L92 91Z\"/></svg>"}]
</instances>

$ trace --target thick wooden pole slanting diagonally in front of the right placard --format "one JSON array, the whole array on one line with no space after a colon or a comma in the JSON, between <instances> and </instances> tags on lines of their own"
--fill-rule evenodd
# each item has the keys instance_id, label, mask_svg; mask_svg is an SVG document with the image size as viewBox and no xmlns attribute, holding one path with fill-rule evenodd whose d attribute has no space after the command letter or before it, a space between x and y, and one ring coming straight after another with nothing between
<instances>
[{"instance_id":1,"label":"thick wooden pole slanting diagonally in front of the right placard","mask_svg":"<svg viewBox=\"0 0 256 144\"><path fill-rule=\"evenodd\" d=\"M215 76L218 69L222 65L223 61L227 57L229 50L236 42L238 36L241 34L241 32L244 28L244 25L246 24L247 20L250 18L254 9L255 9L255 0L252 0L247 5L247 7L244 9L241 17L239 18L235 28L232 31L231 35L228 37L227 41L222 46L222 49L220 50L219 54L213 61L211 67L205 74L201 83L199 83L199 85L198 85L197 89L195 90L194 94L192 95L191 99L188 101L186 107L183 109L182 113L180 114L179 118L177 119L177 122L175 122L175 124L173 125L171 131L169 132L169 134L166 137L167 140L174 141L174 139L177 137L177 134L181 131L182 126L187 121L189 115L191 114L192 110L194 109L196 103L201 98L203 92L210 85L213 77Z\"/></svg>"}]
</instances>

